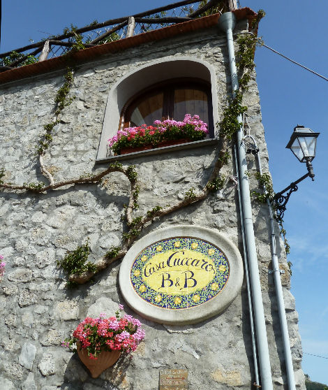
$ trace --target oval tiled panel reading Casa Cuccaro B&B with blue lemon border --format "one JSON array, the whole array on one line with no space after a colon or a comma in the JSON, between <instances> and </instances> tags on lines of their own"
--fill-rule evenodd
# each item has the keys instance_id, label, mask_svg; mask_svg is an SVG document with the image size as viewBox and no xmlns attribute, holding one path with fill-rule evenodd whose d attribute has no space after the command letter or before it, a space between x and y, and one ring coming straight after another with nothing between
<instances>
[{"instance_id":1,"label":"oval tiled panel reading Casa Cuccaro B&B with blue lemon border","mask_svg":"<svg viewBox=\"0 0 328 390\"><path fill-rule=\"evenodd\" d=\"M199 238L174 237L144 248L131 282L144 301L184 309L209 301L225 287L229 263L218 247Z\"/></svg>"}]
</instances>

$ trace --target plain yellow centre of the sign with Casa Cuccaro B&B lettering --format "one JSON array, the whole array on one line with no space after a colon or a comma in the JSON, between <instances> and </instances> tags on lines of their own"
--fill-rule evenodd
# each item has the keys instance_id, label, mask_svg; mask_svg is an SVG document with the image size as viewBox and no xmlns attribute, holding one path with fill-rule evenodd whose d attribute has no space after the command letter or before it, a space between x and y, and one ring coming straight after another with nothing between
<instances>
[{"instance_id":1,"label":"plain yellow centre of the sign with Casa Cuccaro B&B lettering","mask_svg":"<svg viewBox=\"0 0 328 390\"><path fill-rule=\"evenodd\" d=\"M166 294L191 294L214 279L213 259L195 250L179 250L179 246L176 242L177 250L157 252L144 263L142 280L151 289Z\"/></svg>"}]
</instances>

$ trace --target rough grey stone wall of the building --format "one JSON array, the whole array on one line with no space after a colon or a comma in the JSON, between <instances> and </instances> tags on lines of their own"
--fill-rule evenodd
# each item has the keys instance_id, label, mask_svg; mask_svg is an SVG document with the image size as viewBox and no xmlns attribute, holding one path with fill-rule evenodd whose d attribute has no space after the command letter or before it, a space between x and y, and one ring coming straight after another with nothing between
<instances>
[{"instance_id":1,"label":"rough grey stone wall of the building","mask_svg":"<svg viewBox=\"0 0 328 390\"><path fill-rule=\"evenodd\" d=\"M95 158L108 92L119 78L152 59L193 56L214 66L221 115L230 76L225 38L220 34L217 29L208 29L147 43L77 67L71 89L76 99L59 117L61 122L54 128L54 140L45 154L45 165L55 180L105 168L95 165ZM64 81L63 74L40 75L1 88L0 166L6 169L7 182L46 182L40 175L35 145L43 134L43 125L52 120L54 96ZM265 171L267 148L255 75L245 100ZM216 155L213 146L191 147L125 161L124 165L135 164L139 175L140 210L136 215L158 204L176 202L191 187L200 188L207 181ZM255 161L249 159L250 172L255 172ZM207 226L225 234L242 252L237 191L229 180L235 175L232 161L223 169L227 178L223 190L155 221L143 234L171 224ZM251 184L252 189L257 187L253 179ZM103 256L110 246L119 245L128 191L125 176L112 173L102 185L63 187L47 194L0 192L0 254L7 263L0 282L1 389L155 390L162 368L187 369L189 389L251 388L254 375L245 284L225 312L194 326L163 326L140 318L146 339L133 358L120 361L96 380L91 379L77 356L61 347L61 341L84 317L100 312L112 315L119 303L124 304L118 286L119 262L96 275L93 282L70 290L56 261L87 238L91 261ZM253 212L274 388L286 389L274 281L268 274L268 212L256 202ZM305 389L297 312L281 243L279 252L281 268L286 270L283 289L295 377L297 385ZM133 315L127 306L125 309Z\"/></svg>"}]
</instances>

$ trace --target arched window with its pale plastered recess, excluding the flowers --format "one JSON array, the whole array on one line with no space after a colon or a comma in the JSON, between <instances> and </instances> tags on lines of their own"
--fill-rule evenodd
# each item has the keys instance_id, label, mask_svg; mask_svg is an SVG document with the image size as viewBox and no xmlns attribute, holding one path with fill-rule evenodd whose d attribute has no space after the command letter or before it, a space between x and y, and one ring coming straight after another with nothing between
<instances>
[{"instance_id":1,"label":"arched window with its pale plastered recess, excluding the flowers","mask_svg":"<svg viewBox=\"0 0 328 390\"><path fill-rule=\"evenodd\" d=\"M209 136L194 143L195 147L214 145L214 123L219 120L217 81L216 69L211 64L190 56L169 56L133 67L114 82L108 94L96 161L122 159L107 147L107 141L118 130L151 125L154 120L184 120L186 114L199 115L209 125ZM188 145L192 147L191 143Z\"/></svg>"}]
</instances>

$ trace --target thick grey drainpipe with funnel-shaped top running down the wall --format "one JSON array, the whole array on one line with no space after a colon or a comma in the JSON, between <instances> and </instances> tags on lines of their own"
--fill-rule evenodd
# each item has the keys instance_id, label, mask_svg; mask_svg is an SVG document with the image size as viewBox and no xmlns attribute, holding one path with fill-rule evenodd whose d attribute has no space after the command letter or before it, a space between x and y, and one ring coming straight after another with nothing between
<instances>
[{"instance_id":1,"label":"thick grey drainpipe with funnel-shaped top running down the wall","mask_svg":"<svg viewBox=\"0 0 328 390\"><path fill-rule=\"evenodd\" d=\"M231 12L224 13L218 20L218 26L227 34L230 75L232 83L232 91L239 88L236 60L234 58L234 41L232 29L236 24L235 17ZM242 122L242 117L239 115L238 121ZM254 307L254 319L256 338L258 341L258 354L260 363L260 374L262 380L262 389L273 390L271 366L269 359L269 346L267 341L267 329L265 326L264 308L261 293L260 274L258 269L258 256L256 254L255 236L253 229L251 196L249 193L249 182L247 176L247 161L246 151L243 144L244 133L242 128L237 133L237 150L239 161L239 185L241 189L242 208L244 211L244 226L246 245L248 252L248 264L251 277L252 298Z\"/></svg>"}]
</instances>

